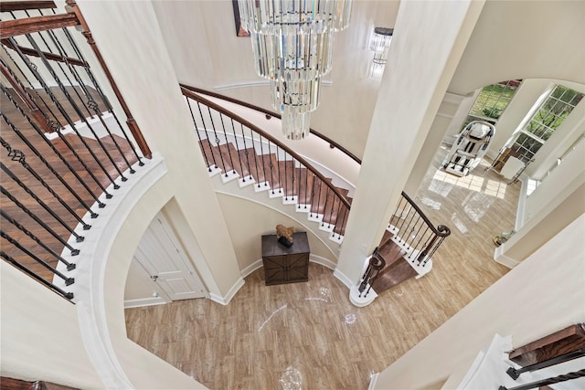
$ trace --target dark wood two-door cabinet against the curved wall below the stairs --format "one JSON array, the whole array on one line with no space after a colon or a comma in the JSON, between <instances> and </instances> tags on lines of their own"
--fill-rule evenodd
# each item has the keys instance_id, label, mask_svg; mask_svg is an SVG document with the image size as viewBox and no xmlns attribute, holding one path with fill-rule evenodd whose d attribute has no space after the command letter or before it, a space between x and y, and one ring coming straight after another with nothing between
<instances>
[{"instance_id":1,"label":"dark wood two-door cabinet against the curved wall below the stairs","mask_svg":"<svg viewBox=\"0 0 585 390\"><path fill-rule=\"evenodd\" d=\"M286 248L276 235L262 236L262 263L266 285L309 280L309 241L306 232L293 233L293 246Z\"/></svg>"}]
</instances>

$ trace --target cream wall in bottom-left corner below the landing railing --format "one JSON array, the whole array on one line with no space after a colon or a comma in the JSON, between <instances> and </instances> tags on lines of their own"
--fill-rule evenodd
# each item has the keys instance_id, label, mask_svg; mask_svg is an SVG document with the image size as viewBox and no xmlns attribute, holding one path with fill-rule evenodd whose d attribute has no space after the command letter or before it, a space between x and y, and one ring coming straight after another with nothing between
<instances>
[{"instance_id":1,"label":"cream wall in bottom-left corner below the landing railing","mask_svg":"<svg viewBox=\"0 0 585 390\"><path fill-rule=\"evenodd\" d=\"M0 268L2 376L103 387L83 347L78 308L5 261Z\"/></svg>"}]
</instances>

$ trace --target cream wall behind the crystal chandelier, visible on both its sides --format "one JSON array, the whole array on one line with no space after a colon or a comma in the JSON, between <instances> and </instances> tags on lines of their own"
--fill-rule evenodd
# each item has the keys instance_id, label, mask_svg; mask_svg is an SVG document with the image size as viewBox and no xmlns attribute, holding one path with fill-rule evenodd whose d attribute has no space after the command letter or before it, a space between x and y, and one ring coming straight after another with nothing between
<instances>
[{"instance_id":1,"label":"cream wall behind the crystal chandelier, visible on both its sides","mask_svg":"<svg viewBox=\"0 0 585 390\"><path fill-rule=\"evenodd\" d=\"M181 82L219 90L239 100L272 110L268 86L253 69L250 38L236 37L229 1L154 1L173 66ZM311 126L340 142L361 157L367 129L379 88L379 80L368 79L373 58L368 49L374 26L393 27L399 1L356 1L350 26L336 34L333 69L325 78L321 104L312 114ZM239 88L236 88L239 86Z\"/></svg>"}]
</instances>

